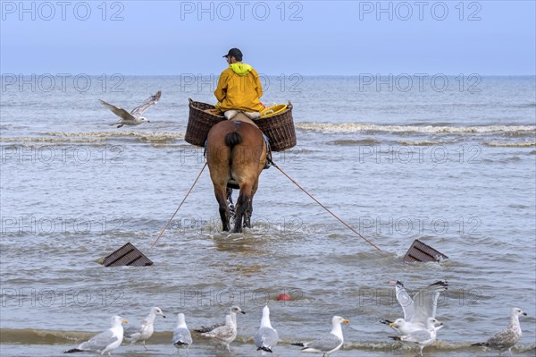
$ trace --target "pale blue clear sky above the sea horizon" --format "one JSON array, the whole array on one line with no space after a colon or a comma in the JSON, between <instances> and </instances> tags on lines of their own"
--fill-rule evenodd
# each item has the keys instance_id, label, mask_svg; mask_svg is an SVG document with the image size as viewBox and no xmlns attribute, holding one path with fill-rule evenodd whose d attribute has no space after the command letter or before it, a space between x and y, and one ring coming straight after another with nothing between
<instances>
[{"instance_id":1,"label":"pale blue clear sky above the sea horizon","mask_svg":"<svg viewBox=\"0 0 536 357\"><path fill-rule=\"evenodd\" d=\"M1 1L0 72L536 72L534 1Z\"/></svg>"}]
</instances>

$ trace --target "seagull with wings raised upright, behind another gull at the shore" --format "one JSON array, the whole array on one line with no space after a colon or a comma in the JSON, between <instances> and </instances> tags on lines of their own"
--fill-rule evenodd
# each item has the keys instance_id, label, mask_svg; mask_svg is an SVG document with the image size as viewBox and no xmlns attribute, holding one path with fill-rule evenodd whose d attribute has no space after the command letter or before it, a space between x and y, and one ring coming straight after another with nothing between
<instances>
[{"instance_id":1,"label":"seagull with wings raised upright, behind another gull at the shore","mask_svg":"<svg viewBox=\"0 0 536 357\"><path fill-rule=\"evenodd\" d=\"M408 335L414 331L427 329L428 318L435 318L440 293L447 288L447 281L440 280L419 290L412 298L404 285L397 281L395 291L398 303L404 310L404 319L396 319L395 321L383 319L380 322L389 325L399 335ZM437 329L440 328L441 326L437 327Z\"/></svg>"}]
</instances>

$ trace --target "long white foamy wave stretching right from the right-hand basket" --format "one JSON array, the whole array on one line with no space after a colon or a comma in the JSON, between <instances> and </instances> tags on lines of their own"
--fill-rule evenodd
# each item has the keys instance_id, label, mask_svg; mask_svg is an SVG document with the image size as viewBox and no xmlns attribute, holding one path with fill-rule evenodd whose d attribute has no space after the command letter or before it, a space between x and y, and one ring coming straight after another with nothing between
<instances>
[{"instance_id":1,"label":"long white foamy wave stretching right from the right-hand basket","mask_svg":"<svg viewBox=\"0 0 536 357\"><path fill-rule=\"evenodd\" d=\"M536 125L378 125L373 123L295 123L297 129L310 132L423 132L423 133L497 133L536 132Z\"/></svg>"}]
</instances>

